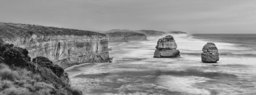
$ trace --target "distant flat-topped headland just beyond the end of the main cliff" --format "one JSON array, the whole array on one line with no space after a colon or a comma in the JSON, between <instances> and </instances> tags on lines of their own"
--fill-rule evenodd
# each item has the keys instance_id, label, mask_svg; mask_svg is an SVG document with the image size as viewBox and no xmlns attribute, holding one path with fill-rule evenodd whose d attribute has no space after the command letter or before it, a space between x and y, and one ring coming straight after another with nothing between
<instances>
[{"instance_id":1,"label":"distant flat-topped headland just beyond the end of the main cliff","mask_svg":"<svg viewBox=\"0 0 256 95\"><path fill-rule=\"evenodd\" d=\"M147 36L137 32L108 32L109 42L129 42L131 40L147 40Z\"/></svg>"}]
</instances>

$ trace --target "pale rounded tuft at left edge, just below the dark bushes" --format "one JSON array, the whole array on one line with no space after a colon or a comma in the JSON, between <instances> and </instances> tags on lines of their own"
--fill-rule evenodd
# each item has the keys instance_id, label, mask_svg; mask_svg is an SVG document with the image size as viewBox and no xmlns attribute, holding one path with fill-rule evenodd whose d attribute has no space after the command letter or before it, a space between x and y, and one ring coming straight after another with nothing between
<instances>
[{"instance_id":1,"label":"pale rounded tuft at left edge, just below the dark bushes","mask_svg":"<svg viewBox=\"0 0 256 95\"><path fill-rule=\"evenodd\" d=\"M18 77L18 73L15 71L11 71L9 68L3 68L0 69L0 77L2 77L2 80L12 80L16 79Z\"/></svg>"}]
</instances>

